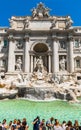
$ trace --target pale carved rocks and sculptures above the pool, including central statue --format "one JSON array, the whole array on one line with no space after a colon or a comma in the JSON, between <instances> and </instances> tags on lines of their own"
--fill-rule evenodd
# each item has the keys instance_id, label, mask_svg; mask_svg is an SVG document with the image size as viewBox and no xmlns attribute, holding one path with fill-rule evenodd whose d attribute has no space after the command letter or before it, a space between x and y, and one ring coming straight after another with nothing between
<instances>
[{"instance_id":1,"label":"pale carved rocks and sculptures above the pool, including central statue","mask_svg":"<svg viewBox=\"0 0 81 130\"><path fill-rule=\"evenodd\" d=\"M62 99L79 102L77 98L81 97L81 80L66 71L57 75L48 74L42 57L37 59L34 72L29 75L24 75L18 64L18 75L0 78L0 87L0 99L22 97L32 100Z\"/></svg>"}]
</instances>

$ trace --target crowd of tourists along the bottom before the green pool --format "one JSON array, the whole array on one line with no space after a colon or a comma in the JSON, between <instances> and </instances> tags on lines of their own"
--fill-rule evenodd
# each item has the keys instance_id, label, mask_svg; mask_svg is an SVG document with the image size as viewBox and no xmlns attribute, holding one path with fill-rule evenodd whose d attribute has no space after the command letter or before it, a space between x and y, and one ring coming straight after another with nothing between
<instances>
[{"instance_id":1,"label":"crowd of tourists along the bottom before the green pool","mask_svg":"<svg viewBox=\"0 0 81 130\"><path fill-rule=\"evenodd\" d=\"M58 119L53 117L49 118L47 121L45 119L40 120L40 117L37 116L32 122L32 130L81 130L81 126L78 123L78 120L75 120L74 124L72 121L63 121L61 124ZM6 119L0 122L0 130L31 130L30 126L27 123L26 118L14 119L7 124Z\"/></svg>"}]
</instances>

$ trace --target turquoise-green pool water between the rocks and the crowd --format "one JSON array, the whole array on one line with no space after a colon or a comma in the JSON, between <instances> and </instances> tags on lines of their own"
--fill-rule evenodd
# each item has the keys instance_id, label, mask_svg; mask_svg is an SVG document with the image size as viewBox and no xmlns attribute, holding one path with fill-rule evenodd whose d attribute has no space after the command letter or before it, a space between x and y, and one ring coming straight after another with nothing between
<instances>
[{"instance_id":1,"label":"turquoise-green pool water between the rocks and the crowd","mask_svg":"<svg viewBox=\"0 0 81 130\"><path fill-rule=\"evenodd\" d=\"M49 119L51 116L74 122L78 119L81 122L81 104L70 104L65 101L51 101L51 102L34 102L27 100L1 100L0 101L0 121L4 118L7 122L10 120L27 118L30 130L32 130L32 121L36 116L40 119Z\"/></svg>"}]
</instances>

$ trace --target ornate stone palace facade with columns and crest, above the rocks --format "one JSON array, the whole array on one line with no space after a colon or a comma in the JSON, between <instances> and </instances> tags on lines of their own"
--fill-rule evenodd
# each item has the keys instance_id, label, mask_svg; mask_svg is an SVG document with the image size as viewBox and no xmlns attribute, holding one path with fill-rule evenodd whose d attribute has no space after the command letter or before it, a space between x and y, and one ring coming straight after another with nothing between
<instances>
[{"instance_id":1,"label":"ornate stone palace facade with columns and crest, above the rocks","mask_svg":"<svg viewBox=\"0 0 81 130\"><path fill-rule=\"evenodd\" d=\"M81 72L81 27L49 11L40 2L32 16L12 16L10 27L0 27L0 72L29 74L42 67L53 74Z\"/></svg>"}]
</instances>

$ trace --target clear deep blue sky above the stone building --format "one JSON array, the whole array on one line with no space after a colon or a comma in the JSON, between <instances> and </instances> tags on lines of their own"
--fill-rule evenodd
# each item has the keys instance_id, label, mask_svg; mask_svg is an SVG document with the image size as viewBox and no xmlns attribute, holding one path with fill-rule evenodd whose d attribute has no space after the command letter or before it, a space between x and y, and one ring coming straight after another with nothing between
<instances>
[{"instance_id":1,"label":"clear deep blue sky above the stone building","mask_svg":"<svg viewBox=\"0 0 81 130\"><path fill-rule=\"evenodd\" d=\"M51 9L50 15L70 15L73 26L81 26L81 0L0 0L0 26L8 27L11 16L31 16L39 2Z\"/></svg>"}]
</instances>

